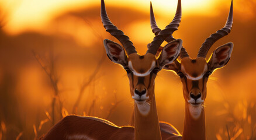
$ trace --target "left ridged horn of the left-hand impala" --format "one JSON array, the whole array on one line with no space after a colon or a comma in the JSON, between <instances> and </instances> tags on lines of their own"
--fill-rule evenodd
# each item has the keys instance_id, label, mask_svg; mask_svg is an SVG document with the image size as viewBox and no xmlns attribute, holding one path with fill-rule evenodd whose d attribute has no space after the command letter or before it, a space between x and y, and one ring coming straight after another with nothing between
<instances>
[{"instance_id":1,"label":"left ridged horn of the left-hand impala","mask_svg":"<svg viewBox=\"0 0 256 140\"><path fill-rule=\"evenodd\" d=\"M104 0L101 0L101 21L106 31L108 31L112 36L116 37L117 40L120 41L128 55L137 53L132 41L130 41L130 38L126 36L122 30L117 29L117 27L112 22L110 22L106 13Z\"/></svg>"}]
</instances>

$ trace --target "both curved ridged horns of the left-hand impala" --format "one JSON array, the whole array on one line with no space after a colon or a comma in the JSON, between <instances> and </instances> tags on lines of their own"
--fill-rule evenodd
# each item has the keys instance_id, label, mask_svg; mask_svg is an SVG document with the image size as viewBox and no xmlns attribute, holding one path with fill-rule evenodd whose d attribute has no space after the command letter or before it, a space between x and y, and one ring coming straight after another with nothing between
<instances>
[{"instance_id":1,"label":"both curved ridged horns of the left-hand impala","mask_svg":"<svg viewBox=\"0 0 256 140\"><path fill-rule=\"evenodd\" d=\"M152 17L150 16L150 18ZM126 50L126 53L128 55L137 53L135 47L133 46L132 41L130 41L130 38L126 36L122 30L117 29L117 27L112 22L110 22L109 17L106 13L104 0L101 0L101 20L106 31L108 31L112 36L116 37L117 40L120 41L120 43L123 45L124 50ZM181 22L181 0L178 1L178 7L177 7L177 11L174 19L172 20L171 23L169 23L165 27L164 30L161 30L158 28L158 31L156 31L157 34L154 37L153 41L150 43L147 53L151 53L155 55L157 53L158 48L161 46L162 42L166 38L172 38L172 33L174 33L175 30L178 30L180 22Z\"/></svg>"}]
</instances>

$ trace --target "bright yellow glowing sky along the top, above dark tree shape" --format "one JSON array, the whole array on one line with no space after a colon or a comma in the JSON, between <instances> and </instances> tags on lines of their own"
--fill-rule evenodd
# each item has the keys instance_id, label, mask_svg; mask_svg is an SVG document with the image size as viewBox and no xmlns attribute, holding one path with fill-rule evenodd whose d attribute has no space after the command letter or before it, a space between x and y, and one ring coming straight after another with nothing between
<instances>
[{"instance_id":1,"label":"bright yellow glowing sky along the top, above dark tree shape","mask_svg":"<svg viewBox=\"0 0 256 140\"><path fill-rule=\"evenodd\" d=\"M25 30L40 30L51 19L67 12L68 10L82 10L91 6L99 6L100 1L95 0L8 0L0 1L4 10L8 13L9 22L5 31L9 34L18 34ZM161 16L170 16L175 12L176 0L153 0L155 13ZM150 0L107 0L106 6L129 7L149 12ZM182 9L184 15L196 13L199 15L215 15L212 13L216 1L210 0L183 0ZM216 12L215 12L216 13Z\"/></svg>"}]
</instances>

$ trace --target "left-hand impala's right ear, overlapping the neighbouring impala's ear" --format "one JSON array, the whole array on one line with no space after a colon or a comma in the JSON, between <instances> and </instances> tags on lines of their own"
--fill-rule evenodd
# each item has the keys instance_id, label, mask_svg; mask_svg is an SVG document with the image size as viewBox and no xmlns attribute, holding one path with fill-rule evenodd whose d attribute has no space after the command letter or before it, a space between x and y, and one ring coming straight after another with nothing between
<instances>
[{"instance_id":1,"label":"left-hand impala's right ear, overlapping the neighbouring impala's ear","mask_svg":"<svg viewBox=\"0 0 256 140\"><path fill-rule=\"evenodd\" d=\"M160 66L164 67L164 65L171 64L173 61L175 61L179 56L181 47L181 39L177 39L166 44L164 48L162 48L162 53L160 54L160 57L158 57Z\"/></svg>"}]
</instances>

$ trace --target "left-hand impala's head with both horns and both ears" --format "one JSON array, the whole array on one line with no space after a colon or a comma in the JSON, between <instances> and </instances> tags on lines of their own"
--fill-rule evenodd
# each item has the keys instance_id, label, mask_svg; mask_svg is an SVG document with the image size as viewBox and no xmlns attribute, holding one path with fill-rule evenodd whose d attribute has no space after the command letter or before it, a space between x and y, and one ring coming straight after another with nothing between
<instances>
[{"instance_id":1,"label":"left-hand impala's head with both horns and both ears","mask_svg":"<svg viewBox=\"0 0 256 140\"><path fill-rule=\"evenodd\" d=\"M105 39L103 41L108 58L121 65L127 72L130 83L130 93L134 102L137 104L140 113L146 115L149 111L151 100L154 97L154 79L157 73L168 64L174 62L179 56L182 40L177 39L169 42L162 49L160 57L156 58L155 54L164 39L178 29L181 22L181 3L179 2L177 14L174 20L164 30L155 36L153 41L148 44L148 50L145 55L137 54L135 47L129 37L124 35L123 31L110 22L106 13L104 1L101 1L101 19L103 26L112 36L123 45Z\"/></svg>"}]
</instances>

